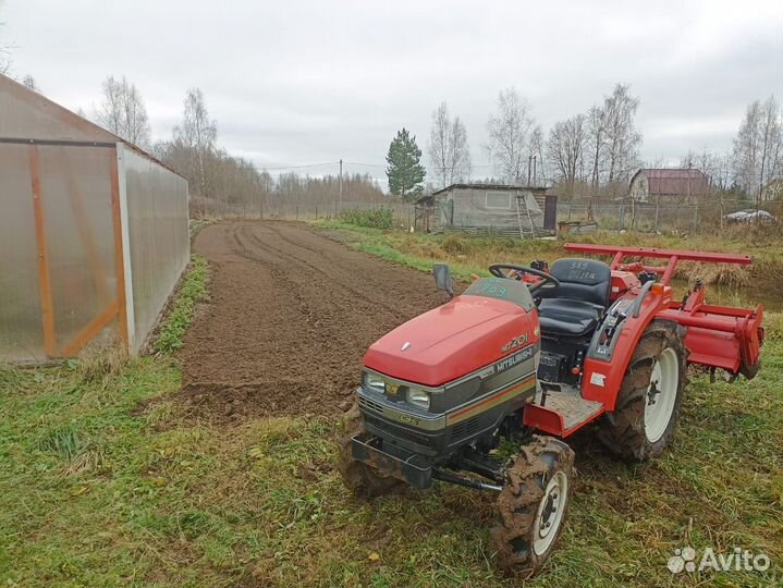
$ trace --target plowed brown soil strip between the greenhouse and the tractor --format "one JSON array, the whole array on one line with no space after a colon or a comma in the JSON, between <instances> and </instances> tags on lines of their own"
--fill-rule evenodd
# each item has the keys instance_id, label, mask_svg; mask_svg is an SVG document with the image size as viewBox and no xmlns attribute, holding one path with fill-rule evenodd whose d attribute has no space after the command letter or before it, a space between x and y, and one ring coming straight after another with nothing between
<instances>
[{"instance_id":1,"label":"plowed brown soil strip between the greenhouse and the tractor","mask_svg":"<svg viewBox=\"0 0 783 588\"><path fill-rule=\"evenodd\" d=\"M367 346L444 299L431 277L306 224L212 224L194 249L211 277L180 354L178 403L193 418L339 414Z\"/></svg>"}]
</instances>

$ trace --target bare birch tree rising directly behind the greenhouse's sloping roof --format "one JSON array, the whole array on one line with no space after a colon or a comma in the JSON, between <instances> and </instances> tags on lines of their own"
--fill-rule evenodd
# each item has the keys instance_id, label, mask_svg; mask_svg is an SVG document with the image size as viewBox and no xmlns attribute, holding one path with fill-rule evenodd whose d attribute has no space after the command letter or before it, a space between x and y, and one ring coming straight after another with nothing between
<instances>
[{"instance_id":1,"label":"bare birch tree rising directly behind the greenhouse's sloping roof","mask_svg":"<svg viewBox=\"0 0 783 588\"><path fill-rule=\"evenodd\" d=\"M149 148L149 119L142 95L125 76L103 81L103 99L95 119L106 130L143 148Z\"/></svg>"}]
</instances>

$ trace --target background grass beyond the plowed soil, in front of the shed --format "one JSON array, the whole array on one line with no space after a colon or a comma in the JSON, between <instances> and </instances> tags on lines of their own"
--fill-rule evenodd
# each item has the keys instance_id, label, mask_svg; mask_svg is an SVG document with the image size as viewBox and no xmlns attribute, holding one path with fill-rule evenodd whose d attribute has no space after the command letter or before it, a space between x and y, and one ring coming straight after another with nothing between
<instances>
[{"instance_id":1,"label":"background grass beyond the plowed soil, in front of the shed","mask_svg":"<svg viewBox=\"0 0 783 588\"><path fill-rule=\"evenodd\" d=\"M699 278L711 284L712 302L727 305L763 304L781 306L783 282L783 234L776 228L747 226L726 229L721 235L653 235L600 231L587 235L562 235L556 240L519 240L509 237L468 237L458 233L420 234L355 226L335 221L317 221L315 225L330 232L360 252L430 271L433 262L446 262L458 280L470 282L470 275L489 275L487 268L496 262L527 266L535 259L552 264L561 257L573 257L564 249L567 242L645 246L670 249L742 253L751 255L750 266L681 262L677 266L677 295L687 282ZM654 265L654 262L653 262ZM683 291L683 292L681 292Z\"/></svg>"}]
</instances>

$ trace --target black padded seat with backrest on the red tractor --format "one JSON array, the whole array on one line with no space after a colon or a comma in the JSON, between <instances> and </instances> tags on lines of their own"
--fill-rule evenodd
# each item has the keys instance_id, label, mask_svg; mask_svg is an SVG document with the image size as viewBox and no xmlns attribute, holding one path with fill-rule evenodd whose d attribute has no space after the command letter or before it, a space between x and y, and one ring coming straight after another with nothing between
<instances>
[{"instance_id":1,"label":"black padded seat with backrest on the red tractor","mask_svg":"<svg viewBox=\"0 0 783 588\"><path fill-rule=\"evenodd\" d=\"M590 334L609 306L611 269L592 259L559 259L550 272L560 285L542 294L538 304L542 334Z\"/></svg>"}]
</instances>

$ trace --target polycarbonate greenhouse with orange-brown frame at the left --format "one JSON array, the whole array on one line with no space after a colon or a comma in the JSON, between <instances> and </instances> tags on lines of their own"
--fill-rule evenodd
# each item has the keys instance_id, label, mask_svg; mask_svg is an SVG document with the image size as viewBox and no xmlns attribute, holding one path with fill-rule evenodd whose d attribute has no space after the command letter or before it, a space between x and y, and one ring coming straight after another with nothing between
<instances>
[{"instance_id":1,"label":"polycarbonate greenhouse with orange-brown frame at the left","mask_svg":"<svg viewBox=\"0 0 783 588\"><path fill-rule=\"evenodd\" d=\"M0 360L137 352L188 258L182 176L0 75Z\"/></svg>"}]
</instances>

